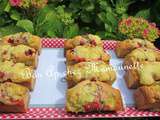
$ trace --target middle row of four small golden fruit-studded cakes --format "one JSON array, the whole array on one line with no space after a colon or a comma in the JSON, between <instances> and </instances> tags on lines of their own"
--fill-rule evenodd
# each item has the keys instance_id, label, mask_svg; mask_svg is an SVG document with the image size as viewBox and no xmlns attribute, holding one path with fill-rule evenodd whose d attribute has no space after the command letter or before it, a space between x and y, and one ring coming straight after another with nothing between
<instances>
[{"instance_id":1,"label":"middle row of four small golden fruit-studded cakes","mask_svg":"<svg viewBox=\"0 0 160 120\"><path fill-rule=\"evenodd\" d=\"M92 34L64 43L68 90L66 111L72 113L123 110L120 91L112 87L116 73L101 39Z\"/></svg>"}]
</instances>

